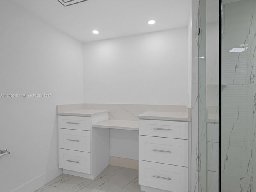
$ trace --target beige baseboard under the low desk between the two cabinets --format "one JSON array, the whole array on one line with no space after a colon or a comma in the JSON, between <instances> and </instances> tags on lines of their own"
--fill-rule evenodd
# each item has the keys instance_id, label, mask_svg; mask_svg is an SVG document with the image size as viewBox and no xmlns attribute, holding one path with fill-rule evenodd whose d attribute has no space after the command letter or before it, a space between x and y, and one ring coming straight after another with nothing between
<instances>
[{"instance_id":1,"label":"beige baseboard under the low desk between the two cabinets","mask_svg":"<svg viewBox=\"0 0 256 192\"><path fill-rule=\"evenodd\" d=\"M130 169L139 169L139 161L134 159L109 156L109 164Z\"/></svg>"}]
</instances>

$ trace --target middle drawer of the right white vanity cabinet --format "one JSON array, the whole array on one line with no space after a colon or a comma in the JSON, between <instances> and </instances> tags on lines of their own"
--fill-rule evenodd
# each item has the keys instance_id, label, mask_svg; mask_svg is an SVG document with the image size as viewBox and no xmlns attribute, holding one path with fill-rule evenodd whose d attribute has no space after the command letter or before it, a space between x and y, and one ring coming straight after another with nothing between
<instances>
[{"instance_id":1,"label":"middle drawer of the right white vanity cabinet","mask_svg":"<svg viewBox=\"0 0 256 192\"><path fill-rule=\"evenodd\" d=\"M188 166L188 140L139 136L139 160Z\"/></svg>"}]
</instances>

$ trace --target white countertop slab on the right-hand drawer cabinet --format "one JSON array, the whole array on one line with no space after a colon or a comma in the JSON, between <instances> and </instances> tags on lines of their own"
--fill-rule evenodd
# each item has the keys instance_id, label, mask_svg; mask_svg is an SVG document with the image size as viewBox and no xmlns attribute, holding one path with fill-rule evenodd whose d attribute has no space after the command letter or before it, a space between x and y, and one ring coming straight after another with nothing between
<instances>
[{"instance_id":1,"label":"white countertop slab on the right-hand drawer cabinet","mask_svg":"<svg viewBox=\"0 0 256 192\"><path fill-rule=\"evenodd\" d=\"M139 119L169 120L169 121L190 121L190 112L159 112L146 111L137 116Z\"/></svg>"}]
</instances>

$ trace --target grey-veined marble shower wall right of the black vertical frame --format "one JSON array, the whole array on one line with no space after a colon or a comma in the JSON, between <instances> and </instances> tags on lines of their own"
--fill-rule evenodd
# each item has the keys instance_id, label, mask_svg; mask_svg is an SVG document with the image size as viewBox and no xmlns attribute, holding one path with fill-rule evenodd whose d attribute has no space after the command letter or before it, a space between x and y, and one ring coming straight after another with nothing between
<instances>
[{"instance_id":1,"label":"grey-veined marble shower wall right of the black vertical frame","mask_svg":"<svg viewBox=\"0 0 256 192\"><path fill-rule=\"evenodd\" d=\"M255 14L256 0L222 7L222 192L256 191Z\"/></svg>"}]
</instances>

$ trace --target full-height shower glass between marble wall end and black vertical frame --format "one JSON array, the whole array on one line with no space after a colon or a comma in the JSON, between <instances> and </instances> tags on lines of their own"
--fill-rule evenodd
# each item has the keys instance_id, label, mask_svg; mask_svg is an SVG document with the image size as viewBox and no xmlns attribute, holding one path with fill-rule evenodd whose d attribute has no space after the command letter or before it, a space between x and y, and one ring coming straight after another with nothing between
<instances>
[{"instance_id":1,"label":"full-height shower glass between marble wall end and black vertical frame","mask_svg":"<svg viewBox=\"0 0 256 192\"><path fill-rule=\"evenodd\" d=\"M200 0L198 10L198 192L219 184L219 1Z\"/></svg>"}]
</instances>

